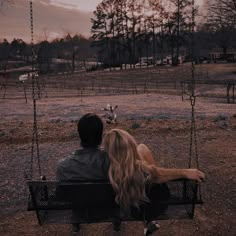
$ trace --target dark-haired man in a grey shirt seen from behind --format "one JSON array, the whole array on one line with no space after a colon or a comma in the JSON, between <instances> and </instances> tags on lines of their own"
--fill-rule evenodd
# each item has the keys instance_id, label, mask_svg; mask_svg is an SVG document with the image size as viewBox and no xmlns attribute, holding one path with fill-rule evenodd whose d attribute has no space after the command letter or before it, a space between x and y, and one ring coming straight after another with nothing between
<instances>
[{"instance_id":1,"label":"dark-haired man in a grey shirt seen from behind","mask_svg":"<svg viewBox=\"0 0 236 236\"><path fill-rule=\"evenodd\" d=\"M81 147L72 156L58 163L59 181L108 180L109 158L100 148L103 122L93 113L84 115L78 122Z\"/></svg>"}]
</instances>

